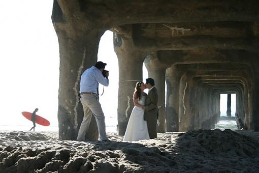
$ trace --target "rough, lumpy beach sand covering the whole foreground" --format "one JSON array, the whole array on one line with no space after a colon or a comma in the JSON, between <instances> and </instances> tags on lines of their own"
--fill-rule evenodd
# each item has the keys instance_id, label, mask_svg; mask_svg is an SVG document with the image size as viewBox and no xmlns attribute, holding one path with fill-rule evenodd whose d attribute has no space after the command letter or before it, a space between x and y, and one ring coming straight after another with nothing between
<instances>
[{"instance_id":1,"label":"rough, lumpy beach sand covering the whole foreground","mask_svg":"<svg viewBox=\"0 0 259 173\"><path fill-rule=\"evenodd\" d=\"M198 130L122 142L0 131L0 172L259 172L259 132Z\"/></svg>"}]
</instances>

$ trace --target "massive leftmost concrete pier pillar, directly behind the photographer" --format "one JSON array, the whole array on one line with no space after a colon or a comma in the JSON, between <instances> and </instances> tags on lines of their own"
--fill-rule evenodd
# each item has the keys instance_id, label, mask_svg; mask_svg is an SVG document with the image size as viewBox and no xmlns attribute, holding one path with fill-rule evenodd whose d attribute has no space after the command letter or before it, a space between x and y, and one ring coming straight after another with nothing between
<instances>
[{"instance_id":1,"label":"massive leftmost concrete pier pillar, directly behind the photographer","mask_svg":"<svg viewBox=\"0 0 259 173\"><path fill-rule=\"evenodd\" d=\"M96 63L99 41L105 32L102 25L96 22L98 20L81 20L81 13L73 10L78 4L73 5L54 1L52 11L52 23L58 37L60 55L57 112L59 138L67 140L74 140L78 135L84 116L78 98L80 77L85 69ZM72 16L80 17L75 20ZM94 118L91 120L86 139L98 139Z\"/></svg>"}]
</instances>

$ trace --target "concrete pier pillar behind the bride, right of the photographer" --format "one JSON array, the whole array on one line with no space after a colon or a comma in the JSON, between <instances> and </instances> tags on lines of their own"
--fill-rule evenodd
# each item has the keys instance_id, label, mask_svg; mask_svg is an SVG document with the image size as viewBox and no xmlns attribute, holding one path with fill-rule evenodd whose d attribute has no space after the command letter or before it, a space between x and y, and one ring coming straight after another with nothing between
<instances>
[{"instance_id":1,"label":"concrete pier pillar behind the bride, right of the photographer","mask_svg":"<svg viewBox=\"0 0 259 173\"><path fill-rule=\"evenodd\" d=\"M113 41L119 63L118 132L124 135L134 107L136 83L143 80L142 66L147 53L137 49L131 37L116 35Z\"/></svg>"}]
</instances>

